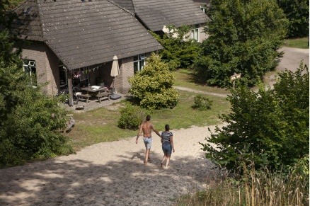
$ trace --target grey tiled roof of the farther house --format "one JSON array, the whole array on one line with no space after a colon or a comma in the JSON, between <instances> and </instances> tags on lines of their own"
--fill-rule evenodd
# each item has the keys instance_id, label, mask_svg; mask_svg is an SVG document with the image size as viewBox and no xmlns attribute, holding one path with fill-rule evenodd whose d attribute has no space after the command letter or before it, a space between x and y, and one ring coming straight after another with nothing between
<instances>
[{"instance_id":1,"label":"grey tiled roof of the farther house","mask_svg":"<svg viewBox=\"0 0 310 206\"><path fill-rule=\"evenodd\" d=\"M119 1L113 0L120 6ZM209 17L193 0L131 0L134 12L151 31L163 29L163 25L195 25L206 23ZM130 9L130 8L127 8Z\"/></svg>"}]
</instances>

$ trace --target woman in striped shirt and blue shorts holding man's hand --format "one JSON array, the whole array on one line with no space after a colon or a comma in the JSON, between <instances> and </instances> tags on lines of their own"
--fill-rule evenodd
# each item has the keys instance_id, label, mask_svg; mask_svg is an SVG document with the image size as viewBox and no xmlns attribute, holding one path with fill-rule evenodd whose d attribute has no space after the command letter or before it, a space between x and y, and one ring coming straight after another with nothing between
<instances>
[{"instance_id":1,"label":"woman in striped shirt and blue shorts holding man's hand","mask_svg":"<svg viewBox=\"0 0 310 206\"><path fill-rule=\"evenodd\" d=\"M170 156L171 156L171 150L174 152L173 147L173 135L172 132L169 132L169 125L165 126L166 131L161 132L161 143L163 148L163 160L161 161L161 167L163 167L163 162L166 161L166 168L168 168Z\"/></svg>"}]
</instances>

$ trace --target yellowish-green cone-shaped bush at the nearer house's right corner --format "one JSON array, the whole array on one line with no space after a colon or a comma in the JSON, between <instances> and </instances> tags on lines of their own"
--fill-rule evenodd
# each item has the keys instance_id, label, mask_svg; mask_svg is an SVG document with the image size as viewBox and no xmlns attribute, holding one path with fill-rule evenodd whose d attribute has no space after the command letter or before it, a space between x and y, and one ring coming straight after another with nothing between
<instances>
[{"instance_id":1,"label":"yellowish-green cone-shaped bush at the nearer house's right corner","mask_svg":"<svg viewBox=\"0 0 310 206\"><path fill-rule=\"evenodd\" d=\"M142 108L149 110L173 108L178 102L178 92L172 88L174 76L167 64L154 53L147 59L144 69L129 79L130 93Z\"/></svg>"}]
</instances>

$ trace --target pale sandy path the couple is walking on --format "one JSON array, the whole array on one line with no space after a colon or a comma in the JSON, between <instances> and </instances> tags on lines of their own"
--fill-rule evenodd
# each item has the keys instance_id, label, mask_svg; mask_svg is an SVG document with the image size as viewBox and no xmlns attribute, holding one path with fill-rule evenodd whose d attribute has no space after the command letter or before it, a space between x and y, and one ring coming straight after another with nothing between
<instances>
[{"instance_id":1,"label":"pale sandy path the couple is walking on","mask_svg":"<svg viewBox=\"0 0 310 206\"><path fill-rule=\"evenodd\" d=\"M0 205L170 205L170 198L202 188L212 163L198 142L208 127L172 130L176 153L160 168L160 139L152 160L135 137L94 144L77 154L0 170ZM210 127L214 130L214 126Z\"/></svg>"}]
</instances>

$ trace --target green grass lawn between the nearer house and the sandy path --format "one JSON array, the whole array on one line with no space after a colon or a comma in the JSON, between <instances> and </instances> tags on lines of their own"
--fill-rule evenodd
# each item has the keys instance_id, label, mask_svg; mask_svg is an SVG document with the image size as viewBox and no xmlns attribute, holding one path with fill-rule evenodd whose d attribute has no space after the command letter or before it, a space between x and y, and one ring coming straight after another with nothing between
<instances>
[{"instance_id":1,"label":"green grass lawn between the nearer house and the sandy path","mask_svg":"<svg viewBox=\"0 0 310 206\"><path fill-rule=\"evenodd\" d=\"M206 126L220 124L218 115L229 113L229 102L225 98L207 96L213 101L210 110L193 110L195 93L178 91L180 101L173 109L147 111L151 115L151 122L159 131L164 130L164 125L169 124L171 130L188 128L192 125ZM108 107L98 108L86 113L74 113L76 124L67 135L71 137L75 151L83 147L99 142L117 141L125 137L137 135L138 130L122 130L117 127L120 118L120 109L126 104L125 101L115 103Z\"/></svg>"}]
</instances>

